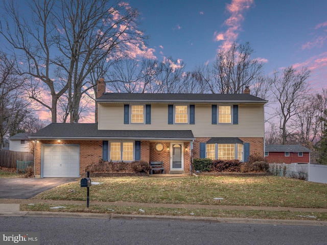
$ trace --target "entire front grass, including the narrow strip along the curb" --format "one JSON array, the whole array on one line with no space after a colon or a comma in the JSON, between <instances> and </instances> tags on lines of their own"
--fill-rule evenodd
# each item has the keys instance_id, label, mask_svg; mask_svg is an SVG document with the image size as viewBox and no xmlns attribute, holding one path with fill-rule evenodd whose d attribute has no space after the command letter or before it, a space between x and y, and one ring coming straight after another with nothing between
<instances>
[{"instance_id":1,"label":"entire front grass, including the narrow strip along the curb","mask_svg":"<svg viewBox=\"0 0 327 245\"><path fill-rule=\"evenodd\" d=\"M279 177L184 177L184 178L92 178L90 207L85 204L59 204L60 200L86 201L86 188L80 181L67 183L38 194L33 199L46 203L20 205L21 210L52 212L92 212L172 216L327 220L327 212L224 210L219 205L281 206L327 208L327 185ZM215 198L223 198L216 201ZM56 204L51 200L59 200ZM215 208L144 208L102 202L168 204L209 204ZM31 200L33 203L33 200ZM51 207L63 206L60 209Z\"/></svg>"}]
</instances>

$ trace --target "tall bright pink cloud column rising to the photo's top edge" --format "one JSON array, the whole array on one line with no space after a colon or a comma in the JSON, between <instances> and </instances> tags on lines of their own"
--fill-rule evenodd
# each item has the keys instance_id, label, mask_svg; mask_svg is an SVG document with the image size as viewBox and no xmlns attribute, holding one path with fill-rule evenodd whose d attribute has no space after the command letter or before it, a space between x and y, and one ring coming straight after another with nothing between
<instances>
[{"instance_id":1,"label":"tall bright pink cloud column rising to the photo's top edge","mask_svg":"<svg viewBox=\"0 0 327 245\"><path fill-rule=\"evenodd\" d=\"M232 42L236 41L241 29L241 22L244 20L243 12L251 7L253 0L232 0L226 5L226 10L230 13L230 17L225 20L227 26L225 32L215 32L215 41L224 41L220 48L225 50L230 47Z\"/></svg>"}]
</instances>

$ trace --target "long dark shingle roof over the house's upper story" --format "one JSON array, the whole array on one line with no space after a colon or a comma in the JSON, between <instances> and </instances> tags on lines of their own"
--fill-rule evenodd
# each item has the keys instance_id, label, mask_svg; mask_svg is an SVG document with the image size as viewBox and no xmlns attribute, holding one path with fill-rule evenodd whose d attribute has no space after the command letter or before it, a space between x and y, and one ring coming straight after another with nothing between
<instances>
[{"instance_id":1,"label":"long dark shingle roof over the house's upper story","mask_svg":"<svg viewBox=\"0 0 327 245\"><path fill-rule=\"evenodd\" d=\"M246 93L105 93L97 99L98 102L156 102L156 103L267 103L251 94Z\"/></svg>"}]
</instances>

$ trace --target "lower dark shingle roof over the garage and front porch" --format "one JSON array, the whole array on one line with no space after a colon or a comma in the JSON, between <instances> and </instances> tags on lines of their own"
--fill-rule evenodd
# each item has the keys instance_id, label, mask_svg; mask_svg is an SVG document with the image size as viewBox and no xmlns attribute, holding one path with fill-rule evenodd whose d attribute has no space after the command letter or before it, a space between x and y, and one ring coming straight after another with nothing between
<instances>
[{"instance_id":1,"label":"lower dark shingle roof over the garage and front porch","mask_svg":"<svg viewBox=\"0 0 327 245\"><path fill-rule=\"evenodd\" d=\"M50 124L31 139L161 139L192 140L191 130L98 130L97 124Z\"/></svg>"}]
</instances>

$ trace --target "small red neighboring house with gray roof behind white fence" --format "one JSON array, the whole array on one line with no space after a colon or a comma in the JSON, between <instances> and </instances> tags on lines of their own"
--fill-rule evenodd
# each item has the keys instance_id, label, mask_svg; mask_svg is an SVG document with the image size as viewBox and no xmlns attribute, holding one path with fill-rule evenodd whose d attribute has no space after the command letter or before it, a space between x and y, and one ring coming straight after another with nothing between
<instances>
[{"instance_id":1,"label":"small red neighboring house with gray roof behind white fence","mask_svg":"<svg viewBox=\"0 0 327 245\"><path fill-rule=\"evenodd\" d=\"M302 145L266 145L265 157L269 163L310 163L310 152Z\"/></svg>"}]
</instances>

